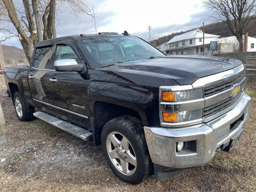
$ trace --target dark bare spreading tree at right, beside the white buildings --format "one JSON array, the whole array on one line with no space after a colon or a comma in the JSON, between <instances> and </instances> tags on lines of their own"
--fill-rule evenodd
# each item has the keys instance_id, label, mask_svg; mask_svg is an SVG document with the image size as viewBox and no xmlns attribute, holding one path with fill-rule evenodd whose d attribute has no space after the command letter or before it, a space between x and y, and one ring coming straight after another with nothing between
<instances>
[{"instance_id":1,"label":"dark bare spreading tree at right, beside the white buildings","mask_svg":"<svg viewBox=\"0 0 256 192\"><path fill-rule=\"evenodd\" d=\"M243 34L256 13L256 0L205 0L205 6L214 12L216 21L225 21L239 42L239 51L243 52Z\"/></svg>"}]
</instances>

